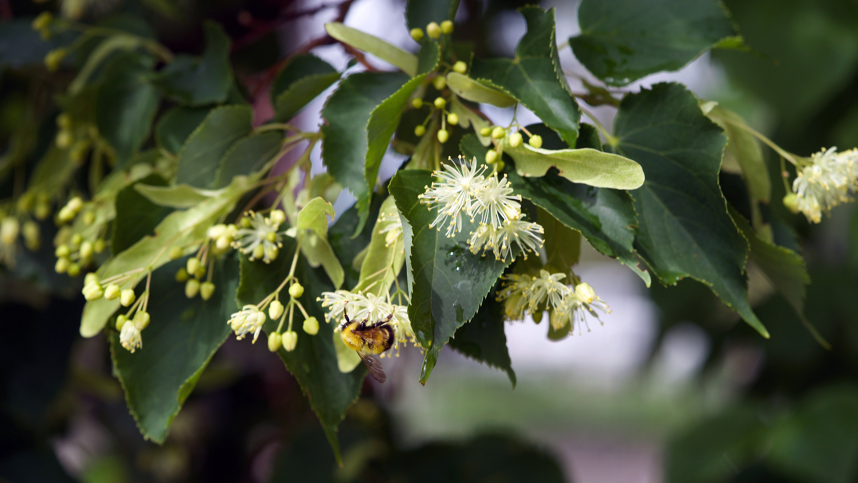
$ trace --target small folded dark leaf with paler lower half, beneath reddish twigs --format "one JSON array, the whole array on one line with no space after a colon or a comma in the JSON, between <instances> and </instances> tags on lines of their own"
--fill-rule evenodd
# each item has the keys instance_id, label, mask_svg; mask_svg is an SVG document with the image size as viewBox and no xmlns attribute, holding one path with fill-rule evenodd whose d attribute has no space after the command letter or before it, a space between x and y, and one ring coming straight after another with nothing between
<instances>
[{"instance_id":1,"label":"small folded dark leaf with paler lower half, beneath reddish twigs","mask_svg":"<svg viewBox=\"0 0 858 483\"><path fill-rule=\"evenodd\" d=\"M312 54L294 57L271 85L275 118L284 123L294 118L302 107L339 78L340 73L319 57Z\"/></svg>"}]
</instances>

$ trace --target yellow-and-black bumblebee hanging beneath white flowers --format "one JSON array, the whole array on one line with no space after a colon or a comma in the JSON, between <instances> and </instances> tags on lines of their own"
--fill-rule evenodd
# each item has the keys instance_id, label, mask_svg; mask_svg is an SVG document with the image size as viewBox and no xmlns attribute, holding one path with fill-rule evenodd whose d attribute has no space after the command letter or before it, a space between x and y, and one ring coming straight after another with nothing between
<instances>
[{"instance_id":1,"label":"yellow-and-black bumblebee hanging beneath white flowers","mask_svg":"<svg viewBox=\"0 0 858 483\"><path fill-rule=\"evenodd\" d=\"M343 343L360 355L360 360L364 361L366 370L370 372L373 379L384 383L387 380L384 368L381 366L381 361L373 355L390 350L396 341L396 330L393 329L395 323L390 322L393 314L376 323L369 323L370 317L360 322L351 320L345 309L342 310L342 316L345 317L345 322L340 325L340 337Z\"/></svg>"}]
</instances>

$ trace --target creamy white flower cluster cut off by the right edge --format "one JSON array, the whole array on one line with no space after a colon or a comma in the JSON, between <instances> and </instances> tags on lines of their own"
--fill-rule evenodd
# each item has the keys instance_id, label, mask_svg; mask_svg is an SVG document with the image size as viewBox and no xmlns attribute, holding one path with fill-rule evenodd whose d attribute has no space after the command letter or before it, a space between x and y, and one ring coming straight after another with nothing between
<instances>
[{"instance_id":1,"label":"creamy white flower cluster cut off by the right edge","mask_svg":"<svg viewBox=\"0 0 858 483\"><path fill-rule=\"evenodd\" d=\"M807 220L819 223L823 213L843 202L851 202L858 190L858 149L837 153L828 148L813 154L793 182L795 209Z\"/></svg>"}]
</instances>

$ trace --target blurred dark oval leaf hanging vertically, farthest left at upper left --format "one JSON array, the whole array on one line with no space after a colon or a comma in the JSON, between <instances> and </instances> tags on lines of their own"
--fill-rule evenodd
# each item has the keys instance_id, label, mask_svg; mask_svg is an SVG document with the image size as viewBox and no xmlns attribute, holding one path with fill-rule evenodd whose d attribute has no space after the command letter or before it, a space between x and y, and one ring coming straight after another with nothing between
<instances>
[{"instance_id":1,"label":"blurred dark oval leaf hanging vertically, farthest left at upper left","mask_svg":"<svg viewBox=\"0 0 858 483\"><path fill-rule=\"evenodd\" d=\"M95 105L99 134L110 143L122 166L149 136L160 95L148 82L154 61L132 52L106 66Z\"/></svg>"}]
</instances>

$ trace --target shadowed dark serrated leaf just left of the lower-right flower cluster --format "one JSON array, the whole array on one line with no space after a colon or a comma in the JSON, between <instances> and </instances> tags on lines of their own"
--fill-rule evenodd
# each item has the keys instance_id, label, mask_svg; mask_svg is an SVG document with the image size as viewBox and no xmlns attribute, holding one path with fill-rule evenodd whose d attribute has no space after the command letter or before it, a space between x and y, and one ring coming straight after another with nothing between
<instances>
[{"instance_id":1,"label":"shadowed dark serrated leaf just left of the lower-right flower cluster","mask_svg":"<svg viewBox=\"0 0 858 483\"><path fill-rule=\"evenodd\" d=\"M503 310L504 305L490 294L474 318L456 329L449 343L456 352L505 371L515 388L516 372L512 370L510 353L506 350Z\"/></svg>"}]
</instances>

